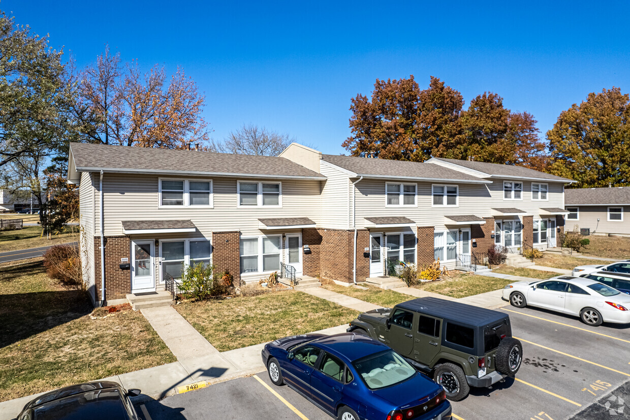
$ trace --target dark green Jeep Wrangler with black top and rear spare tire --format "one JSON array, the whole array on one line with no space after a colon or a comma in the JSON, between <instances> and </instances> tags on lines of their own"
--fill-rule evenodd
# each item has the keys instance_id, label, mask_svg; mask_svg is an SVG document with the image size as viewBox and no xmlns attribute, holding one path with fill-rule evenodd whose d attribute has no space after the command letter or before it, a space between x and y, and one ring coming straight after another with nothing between
<instances>
[{"instance_id":1,"label":"dark green Jeep Wrangler with black top and rear spare tire","mask_svg":"<svg viewBox=\"0 0 630 420\"><path fill-rule=\"evenodd\" d=\"M470 387L490 387L514 376L523 347L510 317L494 310L437 298L420 298L364 312L348 332L387 344L459 401Z\"/></svg>"}]
</instances>

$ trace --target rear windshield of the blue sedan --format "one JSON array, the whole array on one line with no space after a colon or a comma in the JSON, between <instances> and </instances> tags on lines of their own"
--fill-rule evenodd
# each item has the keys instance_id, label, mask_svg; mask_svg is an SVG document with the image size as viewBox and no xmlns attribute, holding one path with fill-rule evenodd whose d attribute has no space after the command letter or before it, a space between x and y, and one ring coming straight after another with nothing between
<instances>
[{"instance_id":1,"label":"rear windshield of the blue sedan","mask_svg":"<svg viewBox=\"0 0 630 420\"><path fill-rule=\"evenodd\" d=\"M392 350L370 354L352 365L370 389L396 385L416 375L416 370Z\"/></svg>"}]
</instances>

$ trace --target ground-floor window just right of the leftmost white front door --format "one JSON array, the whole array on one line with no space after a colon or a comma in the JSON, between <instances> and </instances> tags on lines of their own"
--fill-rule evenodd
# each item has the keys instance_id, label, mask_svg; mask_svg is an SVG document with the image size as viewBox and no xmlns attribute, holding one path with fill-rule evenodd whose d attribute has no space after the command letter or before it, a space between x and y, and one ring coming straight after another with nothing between
<instances>
[{"instance_id":1,"label":"ground-floor window just right of the leftmost white front door","mask_svg":"<svg viewBox=\"0 0 630 420\"><path fill-rule=\"evenodd\" d=\"M210 264L211 254L212 246L205 238L161 241L162 281L166 274L179 279L184 265Z\"/></svg>"}]
</instances>

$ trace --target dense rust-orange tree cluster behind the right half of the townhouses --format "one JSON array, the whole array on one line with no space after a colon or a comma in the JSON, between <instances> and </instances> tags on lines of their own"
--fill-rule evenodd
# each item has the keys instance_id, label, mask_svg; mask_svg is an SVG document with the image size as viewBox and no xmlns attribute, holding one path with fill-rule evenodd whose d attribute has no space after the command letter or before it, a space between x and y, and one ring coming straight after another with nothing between
<instances>
[{"instance_id":1,"label":"dense rust-orange tree cluster behind the right half of the townhouses","mask_svg":"<svg viewBox=\"0 0 630 420\"><path fill-rule=\"evenodd\" d=\"M536 120L503 107L495 93L483 93L463 110L459 91L431 77L420 90L413 78L376 80L371 100L352 99L352 136L343 143L354 156L425 161L431 156L508 163L542 169L545 145Z\"/></svg>"}]
</instances>

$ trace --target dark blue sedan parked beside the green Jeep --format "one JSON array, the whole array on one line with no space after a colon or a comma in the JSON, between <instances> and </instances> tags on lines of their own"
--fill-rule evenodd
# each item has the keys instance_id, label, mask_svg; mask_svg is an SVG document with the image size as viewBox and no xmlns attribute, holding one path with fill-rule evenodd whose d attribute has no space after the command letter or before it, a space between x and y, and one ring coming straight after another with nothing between
<instances>
[{"instance_id":1,"label":"dark blue sedan parked beside the green Jeep","mask_svg":"<svg viewBox=\"0 0 630 420\"><path fill-rule=\"evenodd\" d=\"M340 420L451 418L444 388L365 335L294 335L266 344L262 357L275 385Z\"/></svg>"}]
</instances>

